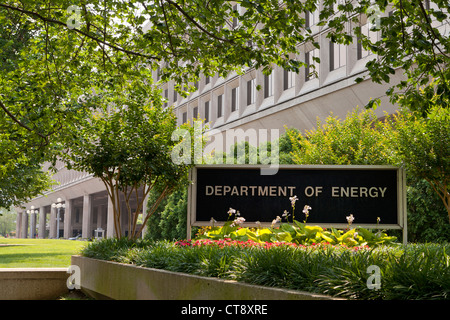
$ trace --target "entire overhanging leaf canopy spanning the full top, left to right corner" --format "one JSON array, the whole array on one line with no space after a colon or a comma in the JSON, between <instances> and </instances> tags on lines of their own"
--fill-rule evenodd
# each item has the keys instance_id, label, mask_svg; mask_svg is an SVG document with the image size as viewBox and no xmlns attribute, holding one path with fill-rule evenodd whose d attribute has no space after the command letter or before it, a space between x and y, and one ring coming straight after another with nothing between
<instances>
[{"instance_id":1,"label":"entire overhanging leaf canopy spanning the full top, left to right corner","mask_svg":"<svg viewBox=\"0 0 450 320\"><path fill-rule=\"evenodd\" d=\"M39 163L57 155L54 142L67 141L74 124L104 104L99 99L108 95L98 93L129 85L158 92L151 76L157 69L180 91L201 73L268 72L273 64L298 71L305 65L299 45L320 47L311 12L320 13L317 25L329 27L332 41L360 41L377 54L366 65L374 82L388 83L401 68L404 80L386 92L393 102L423 115L431 97L448 107L444 0L5 0L0 178L15 174L17 159ZM362 32L367 21L379 40Z\"/></svg>"}]
</instances>

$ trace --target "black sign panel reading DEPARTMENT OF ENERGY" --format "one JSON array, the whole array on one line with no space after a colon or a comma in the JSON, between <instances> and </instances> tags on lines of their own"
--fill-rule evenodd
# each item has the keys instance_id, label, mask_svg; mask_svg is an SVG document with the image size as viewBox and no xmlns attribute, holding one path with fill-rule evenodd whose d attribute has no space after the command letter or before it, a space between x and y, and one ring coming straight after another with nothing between
<instances>
[{"instance_id":1,"label":"black sign panel reading DEPARTMENT OF ENERGY","mask_svg":"<svg viewBox=\"0 0 450 320\"><path fill-rule=\"evenodd\" d=\"M226 221L228 210L239 210L246 222L272 222L297 196L295 219L346 224L352 214L356 225L399 225L402 210L402 175L390 166L282 166L275 175L261 175L260 166L197 166L193 169L190 201L194 224L211 218ZM290 217L292 219L292 217Z\"/></svg>"}]
</instances>

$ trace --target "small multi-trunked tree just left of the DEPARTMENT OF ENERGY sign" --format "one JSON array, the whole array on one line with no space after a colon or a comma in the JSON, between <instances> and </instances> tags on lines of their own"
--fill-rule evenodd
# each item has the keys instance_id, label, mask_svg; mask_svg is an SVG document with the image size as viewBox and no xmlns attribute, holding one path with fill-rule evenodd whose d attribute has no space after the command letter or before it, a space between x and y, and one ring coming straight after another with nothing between
<instances>
[{"instance_id":1,"label":"small multi-trunked tree just left of the DEPARTMENT OF ENERGY sign","mask_svg":"<svg viewBox=\"0 0 450 320\"><path fill-rule=\"evenodd\" d=\"M101 105L90 118L74 124L77 130L61 144L63 152L58 158L68 168L92 173L103 181L113 204L116 236L123 236L121 217L127 214L128 238L134 239L161 201L187 182L190 164L172 161L178 144L172 139L176 117L171 108L162 108L160 95L134 82L129 91L115 93L111 99L107 94L100 96ZM138 229L138 214L151 190L158 197ZM132 196L136 206L130 202Z\"/></svg>"}]
</instances>

